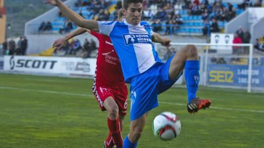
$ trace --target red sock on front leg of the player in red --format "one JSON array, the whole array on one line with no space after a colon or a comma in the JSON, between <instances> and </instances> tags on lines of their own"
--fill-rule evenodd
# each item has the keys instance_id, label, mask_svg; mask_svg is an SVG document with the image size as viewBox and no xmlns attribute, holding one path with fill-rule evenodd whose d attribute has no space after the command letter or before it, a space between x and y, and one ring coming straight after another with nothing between
<instances>
[{"instance_id":1,"label":"red sock on front leg of the player in red","mask_svg":"<svg viewBox=\"0 0 264 148\"><path fill-rule=\"evenodd\" d=\"M117 147L123 147L123 138L120 130L119 118L111 120L107 118L107 125Z\"/></svg>"}]
</instances>

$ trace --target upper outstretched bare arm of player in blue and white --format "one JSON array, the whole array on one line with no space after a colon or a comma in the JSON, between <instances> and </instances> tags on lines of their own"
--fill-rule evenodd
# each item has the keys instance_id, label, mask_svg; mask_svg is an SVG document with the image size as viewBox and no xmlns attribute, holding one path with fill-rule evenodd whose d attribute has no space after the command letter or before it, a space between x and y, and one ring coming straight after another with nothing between
<instances>
[{"instance_id":1,"label":"upper outstretched bare arm of player in blue and white","mask_svg":"<svg viewBox=\"0 0 264 148\"><path fill-rule=\"evenodd\" d=\"M97 21L82 18L82 16L71 10L60 0L46 0L44 1L44 4L52 4L57 6L61 10L62 14L74 22L77 26L99 32Z\"/></svg>"}]
</instances>

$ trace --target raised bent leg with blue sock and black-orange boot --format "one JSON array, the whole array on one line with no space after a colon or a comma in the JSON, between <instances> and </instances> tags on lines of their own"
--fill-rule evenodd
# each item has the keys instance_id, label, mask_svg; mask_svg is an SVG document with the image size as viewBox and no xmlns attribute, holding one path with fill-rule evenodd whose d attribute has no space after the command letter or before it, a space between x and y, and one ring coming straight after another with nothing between
<instances>
[{"instance_id":1,"label":"raised bent leg with blue sock and black-orange boot","mask_svg":"<svg viewBox=\"0 0 264 148\"><path fill-rule=\"evenodd\" d=\"M188 92L188 112L195 113L199 109L208 108L211 105L210 100L199 99L196 97L200 75L198 51L194 45L186 45L174 55L169 69L170 80L177 79L184 68L184 76Z\"/></svg>"}]
</instances>

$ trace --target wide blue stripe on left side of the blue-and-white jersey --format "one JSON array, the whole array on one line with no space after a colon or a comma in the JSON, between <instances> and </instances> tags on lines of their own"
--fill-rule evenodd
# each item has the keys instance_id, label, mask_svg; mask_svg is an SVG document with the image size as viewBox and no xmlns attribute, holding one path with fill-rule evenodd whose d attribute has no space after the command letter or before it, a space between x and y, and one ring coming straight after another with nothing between
<instances>
[{"instance_id":1,"label":"wide blue stripe on left side of the blue-and-white jersey","mask_svg":"<svg viewBox=\"0 0 264 148\"><path fill-rule=\"evenodd\" d=\"M115 38L115 37L120 36L120 34L128 34L128 33L129 33L128 25L125 25L123 22L122 23L116 22L115 27L110 33L110 39L113 42L117 55L119 56L124 78L127 83L129 83L128 78L131 75L131 71L133 71L134 73L133 75L140 74L138 70L138 64L136 62L137 57L136 57L135 49L133 44L124 47L125 44L124 39Z\"/></svg>"}]
</instances>

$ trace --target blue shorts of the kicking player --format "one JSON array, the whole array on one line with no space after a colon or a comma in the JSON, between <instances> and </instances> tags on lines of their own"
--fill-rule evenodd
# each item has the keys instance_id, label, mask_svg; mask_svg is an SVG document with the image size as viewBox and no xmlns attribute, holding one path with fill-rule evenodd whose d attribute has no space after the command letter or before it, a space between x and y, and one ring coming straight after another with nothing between
<instances>
[{"instance_id":1,"label":"blue shorts of the kicking player","mask_svg":"<svg viewBox=\"0 0 264 148\"><path fill-rule=\"evenodd\" d=\"M168 90L180 77L169 80L170 62L173 56L166 63L157 62L147 71L131 78L131 121L157 107L158 94Z\"/></svg>"}]
</instances>

